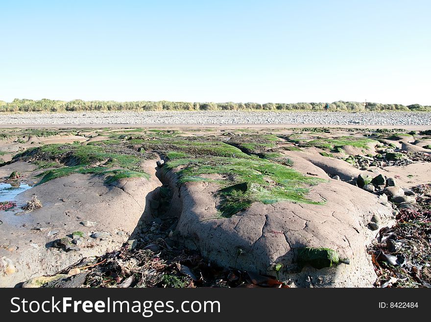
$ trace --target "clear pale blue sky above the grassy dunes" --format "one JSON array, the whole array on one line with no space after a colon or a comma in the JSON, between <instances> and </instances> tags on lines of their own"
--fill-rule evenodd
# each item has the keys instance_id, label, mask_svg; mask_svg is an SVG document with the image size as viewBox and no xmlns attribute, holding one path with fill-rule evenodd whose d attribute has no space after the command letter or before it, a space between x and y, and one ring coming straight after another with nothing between
<instances>
[{"instance_id":1,"label":"clear pale blue sky above the grassy dunes","mask_svg":"<svg viewBox=\"0 0 431 322\"><path fill-rule=\"evenodd\" d=\"M0 0L0 100L431 105L431 1Z\"/></svg>"}]
</instances>

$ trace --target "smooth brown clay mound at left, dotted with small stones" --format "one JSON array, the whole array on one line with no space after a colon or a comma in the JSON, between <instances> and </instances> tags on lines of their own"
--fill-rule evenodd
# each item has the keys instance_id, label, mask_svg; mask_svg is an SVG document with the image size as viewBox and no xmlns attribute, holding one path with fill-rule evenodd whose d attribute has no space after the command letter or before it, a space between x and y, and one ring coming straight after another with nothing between
<instances>
[{"instance_id":1,"label":"smooth brown clay mound at left, dotted with small stones","mask_svg":"<svg viewBox=\"0 0 431 322\"><path fill-rule=\"evenodd\" d=\"M28 165L28 170L33 167ZM25 170L23 164L2 173ZM23 172L24 173L24 172ZM31 172L22 180L32 179ZM146 178L120 179L111 184L91 174L71 174L34 186L15 202L34 196L43 206L32 211L1 211L0 287L13 287L30 277L54 274L87 256L120 248L138 225L147 196L157 183Z\"/></svg>"}]
</instances>

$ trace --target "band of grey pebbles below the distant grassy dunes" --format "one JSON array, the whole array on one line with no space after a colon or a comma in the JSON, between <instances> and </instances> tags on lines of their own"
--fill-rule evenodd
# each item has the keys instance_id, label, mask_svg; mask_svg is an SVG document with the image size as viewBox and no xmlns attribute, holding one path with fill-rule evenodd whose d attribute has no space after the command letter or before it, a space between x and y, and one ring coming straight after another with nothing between
<instances>
[{"instance_id":1,"label":"band of grey pebbles below the distant grassy dunes","mask_svg":"<svg viewBox=\"0 0 431 322\"><path fill-rule=\"evenodd\" d=\"M431 113L312 111L116 111L1 113L1 124L331 124L431 125Z\"/></svg>"}]
</instances>

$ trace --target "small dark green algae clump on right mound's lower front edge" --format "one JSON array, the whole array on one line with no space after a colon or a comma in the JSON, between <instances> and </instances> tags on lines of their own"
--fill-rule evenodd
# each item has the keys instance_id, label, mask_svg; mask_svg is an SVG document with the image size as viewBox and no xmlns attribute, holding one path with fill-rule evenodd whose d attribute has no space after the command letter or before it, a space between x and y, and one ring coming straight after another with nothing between
<instances>
[{"instance_id":1,"label":"small dark green algae clump on right mound's lower front edge","mask_svg":"<svg viewBox=\"0 0 431 322\"><path fill-rule=\"evenodd\" d=\"M340 263L338 253L331 248L298 248L298 264L303 268L306 265L320 270ZM345 261L345 260L344 260Z\"/></svg>"}]
</instances>

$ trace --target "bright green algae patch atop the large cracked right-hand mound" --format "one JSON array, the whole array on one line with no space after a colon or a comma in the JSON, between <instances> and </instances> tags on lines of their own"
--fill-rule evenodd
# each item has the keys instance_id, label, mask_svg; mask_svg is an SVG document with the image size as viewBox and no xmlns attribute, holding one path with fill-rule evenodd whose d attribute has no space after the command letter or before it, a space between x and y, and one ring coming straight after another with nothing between
<instances>
[{"instance_id":1,"label":"bright green algae patch atop the large cracked right-hand mound","mask_svg":"<svg viewBox=\"0 0 431 322\"><path fill-rule=\"evenodd\" d=\"M305 176L287 166L264 159L227 157L174 158L164 166L164 171L174 170L178 184L209 181L220 185L218 210L222 217L231 217L247 209L253 202L265 204L279 201L321 204L306 196L309 187L327 180ZM216 178L202 177L217 174Z\"/></svg>"}]
</instances>

